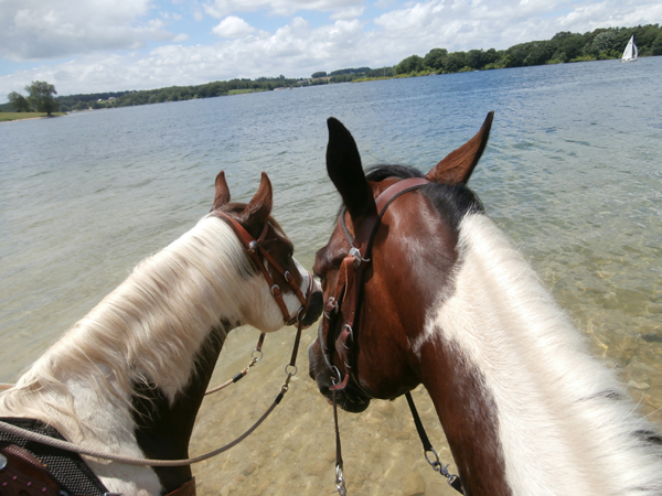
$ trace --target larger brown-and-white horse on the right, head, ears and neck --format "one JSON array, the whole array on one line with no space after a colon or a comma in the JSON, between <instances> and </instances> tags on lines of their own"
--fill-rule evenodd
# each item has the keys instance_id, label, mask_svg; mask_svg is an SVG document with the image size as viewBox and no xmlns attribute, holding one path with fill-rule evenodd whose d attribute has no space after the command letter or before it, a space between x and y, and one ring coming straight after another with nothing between
<instances>
[{"instance_id":1,"label":"larger brown-and-white horse on the right, head, ears and neck","mask_svg":"<svg viewBox=\"0 0 662 496\"><path fill-rule=\"evenodd\" d=\"M365 175L329 119L343 208L313 268L310 375L353 412L423 384L466 495L660 495L656 429L467 187L492 118L425 175Z\"/></svg>"}]
</instances>

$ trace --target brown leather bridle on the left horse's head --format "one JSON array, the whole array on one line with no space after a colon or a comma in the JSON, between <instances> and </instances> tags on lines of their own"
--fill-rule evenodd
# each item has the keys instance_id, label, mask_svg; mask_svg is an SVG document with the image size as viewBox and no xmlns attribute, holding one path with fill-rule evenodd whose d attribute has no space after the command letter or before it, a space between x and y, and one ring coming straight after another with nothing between
<instances>
[{"instance_id":1,"label":"brown leather bridle on the left horse's head","mask_svg":"<svg viewBox=\"0 0 662 496\"><path fill-rule=\"evenodd\" d=\"M214 212L212 215L215 215L215 216L226 220L228 223L229 227L232 227L232 229L234 230L234 233L237 236L237 238L239 239L239 241L242 241L242 245L244 245L246 252L248 254L248 256L250 257L253 262L259 268L259 270L261 271L263 276L265 277L267 283L269 284L271 295L274 296L274 300L278 304L280 312L282 312L282 320L284 320L285 324L291 325L291 324L296 323L297 321L299 321L299 322L302 321L303 317L306 316L306 312L308 311L308 305L310 304L310 294L312 292L312 276L310 274L310 272L308 273L309 289L308 289L308 298L306 298L303 295L303 292L301 291L301 287L295 280L295 277L289 271L284 270L280 267L280 265L276 261L276 259L274 259L274 257L271 257L271 254L269 254L269 251L264 247L264 245L266 242L271 240L271 238L267 239L267 235L269 234L269 231L274 231L273 233L275 236L274 239L279 238L279 236L275 233L275 229L271 226L271 224L266 222L265 227L263 227L263 230L261 230L259 237L257 239L255 239L253 237L253 235L250 235L250 233L248 233L244 228L244 226L242 226L235 218L231 217L229 215L227 215L223 212L218 212L218 211ZM274 281L274 278L267 270L267 267L265 266L264 260L266 260L266 262L268 262L268 265L270 267L273 267L276 272L278 272L280 276L282 276L282 278L286 280L287 284L295 292L299 302L301 302L301 308L299 309L299 311L297 312L297 314L293 317L290 317L290 313L287 310L287 305L285 304L285 300L282 298L282 291L281 291L280 287Z\"/></svg>"}]
</instances>

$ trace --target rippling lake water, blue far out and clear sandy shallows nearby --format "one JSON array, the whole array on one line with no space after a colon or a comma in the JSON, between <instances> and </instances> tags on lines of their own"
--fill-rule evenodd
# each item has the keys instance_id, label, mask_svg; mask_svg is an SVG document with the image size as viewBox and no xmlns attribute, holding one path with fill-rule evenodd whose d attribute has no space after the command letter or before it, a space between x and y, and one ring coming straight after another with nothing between
<instances>
[{"instance_id":1,"label":"rippling lake water, blue far out and clear sandy shallows nearby","mask_svg":"<svg viewBox=\"0 0 662 496\"><path fill-rule=\"evenodd\" d=\"M325 119L353 132L364 164L429 170L495 110L470 185L525 254L640 410L662 408L662 57L465 73L79 112L0 125L0 381L210 208L220 170L237 201L267 171L275 217L310 267L339 197ZM302 349L314 330L307 333ZM228 442L270 405L293 330L205 400L192 454ZM249 359L235 331L214 384ZM195 466L199 494L333 490L332 412L307 376L247 441ZM424 422L450 461L425 391ZM425 463L404 399L341 412L352 495L455 494ZM452 465L451 465L452 467Z\"/></svg>"}]
</instances>

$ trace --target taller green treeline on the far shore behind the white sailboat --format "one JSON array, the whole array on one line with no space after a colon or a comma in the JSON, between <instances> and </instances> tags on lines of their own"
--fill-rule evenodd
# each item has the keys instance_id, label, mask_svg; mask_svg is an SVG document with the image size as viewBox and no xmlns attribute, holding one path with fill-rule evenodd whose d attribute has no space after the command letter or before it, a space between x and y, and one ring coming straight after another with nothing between
<instances>
[{"instance_id":1,"label":"taller green treeline on the far shore behind the white sailboat","mask_svg":"<svg viewBox=\"0 0 662 496\"><path fill-rule=\"evenodd\" d=\"M601 28L584 34L562 31L552 40L520 43L508 50L448 53L446 48L434 48L425 57L408 56L393 71L396 76L418 76L620 58L632 35L639 56L662 55L662 29L658 24L647 24Z\"/></svg>"}]
</instances>

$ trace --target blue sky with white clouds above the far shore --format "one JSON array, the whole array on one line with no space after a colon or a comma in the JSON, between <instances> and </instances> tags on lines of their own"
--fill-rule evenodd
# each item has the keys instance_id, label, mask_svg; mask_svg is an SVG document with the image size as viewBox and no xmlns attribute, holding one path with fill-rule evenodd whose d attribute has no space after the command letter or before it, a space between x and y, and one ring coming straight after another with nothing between
<instances>
[{"instance_id":1,"label":"blue sky with white clouds above the far shore","mask_svg":"<svg viewBox=\"0 0 662 496\"><path fill-rule=\"evenodd\" d=\"M310 77L661 22L660 0L0 0L0 103L32 80L73 95Z\"/></svg>"}]
</instances>

